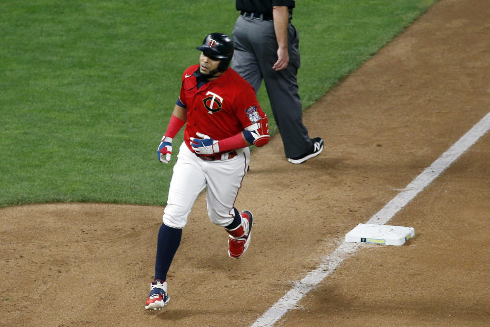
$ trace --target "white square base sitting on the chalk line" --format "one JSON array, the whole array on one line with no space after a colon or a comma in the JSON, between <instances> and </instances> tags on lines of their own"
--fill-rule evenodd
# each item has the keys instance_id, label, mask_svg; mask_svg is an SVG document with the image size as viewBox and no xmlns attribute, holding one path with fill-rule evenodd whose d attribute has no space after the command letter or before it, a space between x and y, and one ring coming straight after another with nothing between
<instances>
[{"instance_id":1,"label":"white square base sitting on the chalk line","mask_svg":"<svg viewBox=\"0 0 490 327\"><path fill-rule=\"evenodd\" d=\"M413 227L358 224L346 234L346 242L403 245L414 236Z\"/></svg>"}]
</instances>

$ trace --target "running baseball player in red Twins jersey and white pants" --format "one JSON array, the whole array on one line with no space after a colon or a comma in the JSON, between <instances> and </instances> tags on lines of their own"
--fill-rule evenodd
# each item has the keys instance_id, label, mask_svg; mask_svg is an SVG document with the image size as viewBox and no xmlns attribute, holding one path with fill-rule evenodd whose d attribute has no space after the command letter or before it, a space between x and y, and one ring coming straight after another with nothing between
<instances>
[{"instance_id":1,"label":"running baseball player in red Twins jersey and white pants","mask_svg":"<svg viewBox=\"0 0 490 327\"><path fill-rule=\"evenodd\" d=\"M261 147L269 141L268 119L252 86L229 68L234 51L229 36L211 33L197 49L199 64L182 75L180 97L157 150L158 159L168 163L173 138L185 124L158 232L148 310L159 310L170 300L167 271L192 205L204 188L209 218L228 232L228 255L239 258L250 245L254 217L233 205L250 162L248 146Z\"/></svg>"}]
</instances>

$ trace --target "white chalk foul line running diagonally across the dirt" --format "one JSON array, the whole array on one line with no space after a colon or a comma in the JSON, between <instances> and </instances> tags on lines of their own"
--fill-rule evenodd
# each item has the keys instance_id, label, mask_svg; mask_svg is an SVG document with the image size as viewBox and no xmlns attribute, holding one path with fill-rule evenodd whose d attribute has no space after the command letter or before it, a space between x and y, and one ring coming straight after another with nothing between
<instances>
[{"instance_id":1,"label":"white chalk foul line running diagonally across the dirt","mask_svg":"<svg viewBox=\"0 0 490 327\"><path fill-rule=\"evenodd\" d=\"M488 130L490 130L490 112L453 144L449 150L435 160L430 167L415 177L403 191L389 201L367 223L384 225L388 222L437 176L451 166L461 154L475 144ZM322 282L345 258L356 252L359 246L359 243L342 242L330 255L322 259L322 263L316 269L308 272L300 282L297 282L274 306L269 308L257 319L251 327L272 327L288 310L294 309L303 296Z\"/></svg>"}]
</instances>

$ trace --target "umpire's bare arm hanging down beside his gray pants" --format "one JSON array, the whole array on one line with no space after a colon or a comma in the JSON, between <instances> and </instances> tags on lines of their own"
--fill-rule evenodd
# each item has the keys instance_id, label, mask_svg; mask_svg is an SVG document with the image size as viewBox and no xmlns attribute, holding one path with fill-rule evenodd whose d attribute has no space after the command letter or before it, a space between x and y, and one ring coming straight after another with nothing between
<instances>
[{"instance_id":1,"label":"umpire's bare arm hanging down beside his gray pants","mask_svg":"<svg viewBox=\"0 0 490 327\"><path fill-rule=\"evenodd\" d=\"M275 71L280 71L287 67L289 54L287 52L287 25L289 23L289 10L287 6L272 7L274 17L274 31L279 48L277 49L277 61L272 66Z\"/></svg>"}]
</instances>

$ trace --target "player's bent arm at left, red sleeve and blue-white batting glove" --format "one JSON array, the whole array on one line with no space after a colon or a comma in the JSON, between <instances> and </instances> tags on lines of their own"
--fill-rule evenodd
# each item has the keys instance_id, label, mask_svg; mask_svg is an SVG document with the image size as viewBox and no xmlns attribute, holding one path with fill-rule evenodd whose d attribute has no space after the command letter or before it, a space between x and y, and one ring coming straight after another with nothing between
<instances>
[{"instance_id":1,"label":"player's bent arm at left, red sleeve and blue-white batting glove","mask_svg":"<svg viewBox=\"0 0 490 327\"><path fill-rule=\"evenodd\" d=\"M172 154L172 141L175 135L180 131L182 126L184 126L187 120L187 109L185 105L182 104L180 99L174 106L174 111L170 116L170 121L168 122L167 130L163 134L162 141L157 149L158 160L168 164L171 159Z\"/></svg>"}]
</instances>

